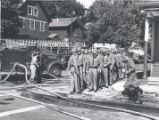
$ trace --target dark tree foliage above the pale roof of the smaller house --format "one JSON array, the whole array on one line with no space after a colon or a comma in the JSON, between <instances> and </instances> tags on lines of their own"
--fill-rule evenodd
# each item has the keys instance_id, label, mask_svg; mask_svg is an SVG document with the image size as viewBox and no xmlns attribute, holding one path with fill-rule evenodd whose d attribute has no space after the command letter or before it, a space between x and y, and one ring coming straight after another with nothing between
<instances>
[{"instance_id":1,"label":"dark tree foliage above the pale roof of the smaller house","mask_svg":"<svg viewBox=\"0 0 159 120\"><path fill-rule=\"evenodd\" d=\"M83 16L84 7L76 1L42 2L48 14L52 17Z\"/></svg>"}]
</instances>

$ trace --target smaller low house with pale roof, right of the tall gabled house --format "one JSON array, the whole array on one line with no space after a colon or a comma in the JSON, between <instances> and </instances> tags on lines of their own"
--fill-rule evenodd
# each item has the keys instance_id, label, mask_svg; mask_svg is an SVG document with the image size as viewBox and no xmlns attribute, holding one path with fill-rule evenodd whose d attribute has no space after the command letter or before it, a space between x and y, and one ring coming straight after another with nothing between
<instances>
[{"instance_id":1,"label":"smaller low house with pale roof, right of the tall gabled house","mask_svg":"<svg viewBox=\"0 0 159 120\"><path fill-rule=\"evenodd\" d=\"M83 39L84 25L79 17L55 18L49 24L50 35L58 35L60 39Z\"/></svg>"}]
</instances>

